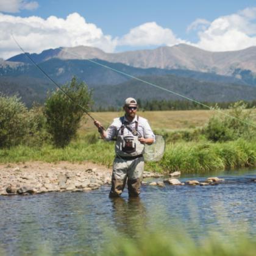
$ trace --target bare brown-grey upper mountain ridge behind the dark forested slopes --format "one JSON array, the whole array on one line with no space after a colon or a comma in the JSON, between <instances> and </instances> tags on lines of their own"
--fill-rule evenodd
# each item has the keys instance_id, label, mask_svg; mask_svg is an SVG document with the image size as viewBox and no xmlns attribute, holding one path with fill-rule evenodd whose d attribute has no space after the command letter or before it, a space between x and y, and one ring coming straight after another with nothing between
<instances>
[{"instance_id":1,"label":"bare brown-grey upper mountain ridge behind the dark forested slopes","mask_svg":"<svg viewBox=\"0 0 256 256\"><path fill-rule=\"evenodd\" d=\"M225 76L237 74L237 69L256 73L256 46L240 51L210 52L190 46L177 44L161 46L156 49L107 53L90 46L56 48L44 50L40 54L30 54L35 62L57 59L101 59L107 62L123 63L136 68L189 69ZM24 54L8 59L9 62L24 62Z\"/></svg>"}]
</instances>

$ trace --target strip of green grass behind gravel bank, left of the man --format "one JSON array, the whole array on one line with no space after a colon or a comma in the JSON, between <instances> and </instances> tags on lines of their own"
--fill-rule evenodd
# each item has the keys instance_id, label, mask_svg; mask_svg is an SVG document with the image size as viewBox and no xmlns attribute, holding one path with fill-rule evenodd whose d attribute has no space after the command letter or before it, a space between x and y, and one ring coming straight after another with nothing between
<instances>
[{"instance_id":1,"label":"strip of green grass behind gravel bank, left of the man","mask_svg":"<svg viewBox=\"0 0 256 256\"><path fill-rule=\"evenodd\" d=\"M111 166L115 152L113 143L98 140L95 133L85 138L73 141L65 148L55 148L50 144L43 146L15 146L10 149L0 149L0 162L83 162L91 161Z\"/></svg>"}]
</instances>

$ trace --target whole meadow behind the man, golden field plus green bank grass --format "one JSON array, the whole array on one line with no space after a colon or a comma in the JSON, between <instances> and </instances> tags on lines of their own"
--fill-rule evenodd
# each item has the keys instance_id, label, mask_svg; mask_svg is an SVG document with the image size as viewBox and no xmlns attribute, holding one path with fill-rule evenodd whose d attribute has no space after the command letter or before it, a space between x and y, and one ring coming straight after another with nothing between
<instances>
[{"instance_id":1,"label":"whole meadow behind the man, golden field plus green bank grass","mask_svg":"<svg viewBox=\"0 0 256 256\"><path fill-rule=\"evenodd\" d=\"M105 127L113 118L122 114L123 112L91 113ZM152 129L162 134L166 140L165 155L162 160L146 163L147 171L200 173L256 166L256 143L251 130L247 131L251 136L250 139L240 134L236 135L236 139L227 141L214 142L205 138L204 129L209 118L216 115L213 110L138 112L138 115L147 118ZM250 115L254 116L255 110L252 110ZM114 156L114 142L102 141L93 121L87 116L84 116L77 138L65 148L55 148L49 143L43 143L32 146L20 144L0 150L1 163L91 161L111 168Z\"/></svg>"}]
</instances>

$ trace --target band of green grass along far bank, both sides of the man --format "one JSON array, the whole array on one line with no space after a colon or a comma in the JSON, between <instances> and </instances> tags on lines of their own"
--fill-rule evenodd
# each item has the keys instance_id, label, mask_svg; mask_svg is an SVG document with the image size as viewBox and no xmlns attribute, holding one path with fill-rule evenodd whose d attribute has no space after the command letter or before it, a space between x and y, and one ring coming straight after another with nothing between
<instances>
[{"instance_id":1,"label":"band of green grass along far bank, both sides of the man","mask_svg":"<svg viewBox=\"0 0 256 256\"><path fill-rule=\"evenodd\" d=\"M0 163L11 162L84 162L112 166L114 143L98 139L96 133L73 141L66 148L16 146L0 149ZM180 141L167 143L165 155L158 163L146 163L148 171L182 171L203 173L220 169L256 166L256 141L236 140L225 143Z\"/></svg>"}]
</instances>

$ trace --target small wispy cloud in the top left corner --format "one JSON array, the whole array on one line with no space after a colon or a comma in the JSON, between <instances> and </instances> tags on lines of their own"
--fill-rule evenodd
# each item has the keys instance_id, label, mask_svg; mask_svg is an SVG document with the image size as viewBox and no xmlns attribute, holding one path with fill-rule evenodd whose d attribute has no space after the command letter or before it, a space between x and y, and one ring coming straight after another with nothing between
<instances>
[{"instance_id":1,"label":"small wispy cloud in the top left corner","mask_svg":"<svg viewBox=\"0 0 256 256\"><path fill-rule=\"evenodd\" d=\"M20 12L20 10L34 10L37 9L38 3L35 1L26 0L1 0L0 12Z\"/></svg>"}]
</instances>

